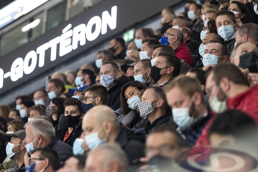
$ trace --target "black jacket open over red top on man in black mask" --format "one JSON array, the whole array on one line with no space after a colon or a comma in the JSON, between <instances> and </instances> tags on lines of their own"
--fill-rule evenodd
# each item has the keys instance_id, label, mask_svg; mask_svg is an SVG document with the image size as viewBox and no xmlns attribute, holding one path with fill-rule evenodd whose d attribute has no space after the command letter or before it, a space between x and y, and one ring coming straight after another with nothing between
<instances>
[{"instance_id":1,"label":"black jacket open over red top on man in black mask","mask_svg":"<svg viewBox=\"0 0 258 172\"><path fill-rule=\"evenodd\" d=\"M56 131L56 139L59 139L61 141L64 140L65 134L68 131L68 128L63 128ZM82 125L73 125L73 131L70 134L70 136L64 141L64 143L67 143L70 146L73 146L74 140L82 134Z\"/></svg>"}]
</instances>

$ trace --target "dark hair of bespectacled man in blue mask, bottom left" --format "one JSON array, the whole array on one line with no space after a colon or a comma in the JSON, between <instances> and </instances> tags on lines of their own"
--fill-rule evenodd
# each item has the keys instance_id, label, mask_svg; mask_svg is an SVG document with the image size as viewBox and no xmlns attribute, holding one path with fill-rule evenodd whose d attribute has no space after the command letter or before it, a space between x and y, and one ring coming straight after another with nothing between
<instances>
[{"instance_id":1,"label":"dark hair of bespectacled man in blue mask, bottom left","mask_svg":"<svg viewBox=\"0 0 258 172\"><path fill-rule=\"evenodd\" d=\"M33 154L35 152L40 152L39 158L40 159L48 159L48 163L51 166L51 168L56 171L60 168L60 160L57 152L53 150L50 147L43 147L43 148L37 148L32 150L30 153Z\"/></svg>"}]
</instances>

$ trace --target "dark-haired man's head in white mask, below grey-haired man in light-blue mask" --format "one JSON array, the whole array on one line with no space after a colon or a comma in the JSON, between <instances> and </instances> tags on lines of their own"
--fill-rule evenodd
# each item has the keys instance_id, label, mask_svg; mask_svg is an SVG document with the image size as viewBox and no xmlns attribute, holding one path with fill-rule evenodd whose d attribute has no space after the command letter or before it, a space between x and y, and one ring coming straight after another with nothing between
<instances>
[{"instance_id":1,"label":"dark-haired man's head in white mask, below grey-haired man in light-blue mask","mask_svg":"<svg viewBox=\"0 0 258 172\"><path fill-rule=\"evenodd\" d=\"M140 59L150 59L153 53L152 48L158 44L160 44L160 42L155 38L147 38L142 40L142 48L139 52Z\"/></svg>"}]
</instances>

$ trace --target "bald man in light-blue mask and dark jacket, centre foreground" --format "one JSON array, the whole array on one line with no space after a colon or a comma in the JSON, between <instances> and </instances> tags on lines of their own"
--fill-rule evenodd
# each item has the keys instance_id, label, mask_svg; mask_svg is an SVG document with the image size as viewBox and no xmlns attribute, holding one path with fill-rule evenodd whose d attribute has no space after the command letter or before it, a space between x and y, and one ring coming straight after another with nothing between
<instances>
[{"instance_id":1,"label":"bald man in light-blue mask and dark jacket, centre foreground","mask_svg":"<svg viewBox=\"0 0 258 172\"><path fill-rule=\"evenodd\" d=\"M126 152L130 164L144 157L144 143L119 123L115 112L106 105L99 105L87 111L82 120L82 130L87 147L91 150L105 142L116 142Z\"/></svg>"}]
</instances>

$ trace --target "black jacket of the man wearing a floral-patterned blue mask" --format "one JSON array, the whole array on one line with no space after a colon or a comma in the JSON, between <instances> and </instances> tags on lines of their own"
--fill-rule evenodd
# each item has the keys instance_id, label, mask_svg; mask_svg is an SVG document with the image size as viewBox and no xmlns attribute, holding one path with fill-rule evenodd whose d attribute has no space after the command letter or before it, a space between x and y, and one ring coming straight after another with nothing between
<instances>
[{"instance_id":1,"label":"black jacket of the man wearing a floral-patterned blue mask","mask_svg":"<svg viewBox=\"0 0 258 172\"><path fill-rule=\"evenodd\" d=\"M113 86L108 90L108 106L111 107L113 110L117 110L120 108L120 93L122 87L131 82L130 79L126 76L122 76L119 79L114 80Z\"/></svg>"}]
</instances>

